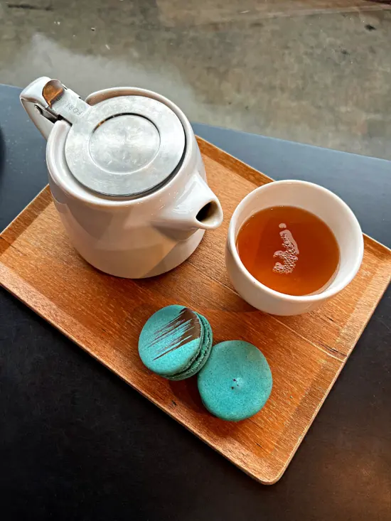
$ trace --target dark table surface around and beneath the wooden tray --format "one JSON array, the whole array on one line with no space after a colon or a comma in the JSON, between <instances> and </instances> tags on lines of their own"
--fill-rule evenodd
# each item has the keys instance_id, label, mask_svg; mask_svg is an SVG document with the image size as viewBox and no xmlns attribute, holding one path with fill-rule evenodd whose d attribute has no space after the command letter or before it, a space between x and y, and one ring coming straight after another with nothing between
<instances>
[{"instance_id":1,"label":"dark table surface around and beneath the wooden tray","mask_svg":"<svg viewBox=\"0 0 391 521\"><path fill-rule=\"evenodd\" d=\"M45 141L0 87L0 229L47 182ZM341 195L391 245L391 162L195 124L275 179ZM282 479L259 485L0 289L2 520L390 520L391 291Z\"/></svg>"}]
</instances>

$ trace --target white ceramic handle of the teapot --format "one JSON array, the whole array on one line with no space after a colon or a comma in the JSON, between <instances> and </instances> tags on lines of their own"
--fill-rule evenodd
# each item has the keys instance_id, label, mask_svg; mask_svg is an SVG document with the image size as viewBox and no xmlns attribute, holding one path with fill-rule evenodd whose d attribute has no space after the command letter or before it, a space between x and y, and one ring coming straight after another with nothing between
<instances>
[{"instance_id":1,"label":"white ceramic handle of the teapot","mask_svg":"<svg viewBox=\"0 0 391 521\"><path fill-rule=\"evenodd\" d=\"M56 121L50 114L46 114L43 108L47 105L43 97L43 87L48 82L50 82L50 77L38 77L23 89L20 95L23 108L45 139L48 139Z\"/></svg>"}]
</instances>

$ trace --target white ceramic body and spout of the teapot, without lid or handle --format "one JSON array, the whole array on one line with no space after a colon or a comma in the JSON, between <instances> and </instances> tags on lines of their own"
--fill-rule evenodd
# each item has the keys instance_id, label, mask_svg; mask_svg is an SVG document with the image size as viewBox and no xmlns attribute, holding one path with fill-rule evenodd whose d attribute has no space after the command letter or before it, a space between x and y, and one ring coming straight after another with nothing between
<instances>
[{"instance_id":1,"label":"white ceramic body and spout of the teapot, without lid or handle","mask_svg":"<svg viewBox=\"0 0 391 521\"><path fill-rule=\"evenodd\" d=\"M206 183L191 125L176 105L154 92L132 88L103 90L86 102L93 105L124 95L154 97L181 120L186 149L166 183L141 197L111 197L83 186L65 156L71 125L63 119L50 129L46 163L55 207L75 249L102 272L139 279L181 264L198 247L205 230L221 224L223 213Z\"/></svg>"}]
</instances>

